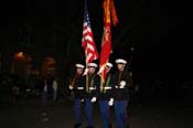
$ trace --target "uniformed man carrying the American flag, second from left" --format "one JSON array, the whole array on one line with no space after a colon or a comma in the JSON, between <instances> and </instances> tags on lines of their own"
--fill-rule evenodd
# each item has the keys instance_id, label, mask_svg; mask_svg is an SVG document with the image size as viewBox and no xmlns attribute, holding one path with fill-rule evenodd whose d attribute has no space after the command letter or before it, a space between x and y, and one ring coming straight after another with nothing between
<instances>
[{"instance_id":1,"label":"uniformed man carrying the American flag, second from left","mask_svg":"<svg viewBox=\"0 0 193 128\"><path fill-rule=\"evenodd\" d=\"M100 77L96 73L97 64L88 64L88 73L86 76L86 103L85 115L88 122L86 128L94 128L93 124L93 104L97 100L98 90L100 86Z\"/></svg>"}]
</instances>

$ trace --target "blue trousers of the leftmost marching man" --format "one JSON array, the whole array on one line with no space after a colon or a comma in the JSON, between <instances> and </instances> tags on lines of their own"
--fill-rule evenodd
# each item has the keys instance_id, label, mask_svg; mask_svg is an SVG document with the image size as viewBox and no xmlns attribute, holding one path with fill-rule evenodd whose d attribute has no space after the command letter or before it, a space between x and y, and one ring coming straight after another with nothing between
<instances>
[{"instance_id":1,"label":"blue trousers of the leftmost marching man","mask_svg":"<svg viewBox=\"0 0 193 128\"><path fill-rule=\"evenodd\" d=\"M82 124L82 102L81 99L75 99L74 115L75 115L76 124Z\"/></svg>"}]
</instances>

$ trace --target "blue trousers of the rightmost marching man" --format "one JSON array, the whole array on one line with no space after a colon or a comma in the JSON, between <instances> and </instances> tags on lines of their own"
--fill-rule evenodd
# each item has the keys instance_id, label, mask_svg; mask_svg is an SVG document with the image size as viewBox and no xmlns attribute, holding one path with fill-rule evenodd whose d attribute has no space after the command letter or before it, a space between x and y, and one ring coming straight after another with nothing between
<instances>
[{"instance_id":1,"label":"blue trousers of the rightmost marching man","mask_svg":"<svg viewBox=\"0 0 193 128\"><path fill-rule=\"evenodd\" d=\"M117 128L127 127L127 105L128 100L115 100L115 115Z\"/></svg>"}]
</instances>

